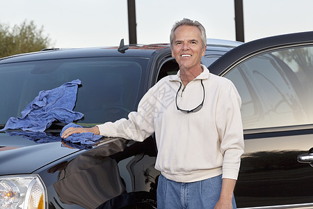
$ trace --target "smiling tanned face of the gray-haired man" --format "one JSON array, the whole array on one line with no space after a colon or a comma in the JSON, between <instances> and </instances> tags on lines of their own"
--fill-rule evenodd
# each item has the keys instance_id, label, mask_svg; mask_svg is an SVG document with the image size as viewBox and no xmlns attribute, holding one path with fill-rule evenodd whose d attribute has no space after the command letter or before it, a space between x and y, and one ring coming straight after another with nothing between
<instances>
[{"instance_id":1,"label":"smiling tanned face of the gray-haired man","mask_svg":"<svg viewBox=\"0 0 313 209\"><path fill-rule=\"evenodd\" d=\"M201 32L196 26L179 26L174 32L172 56L181 70L200 66L205 48L202 47Z\"/></svg>"}]
</instances>

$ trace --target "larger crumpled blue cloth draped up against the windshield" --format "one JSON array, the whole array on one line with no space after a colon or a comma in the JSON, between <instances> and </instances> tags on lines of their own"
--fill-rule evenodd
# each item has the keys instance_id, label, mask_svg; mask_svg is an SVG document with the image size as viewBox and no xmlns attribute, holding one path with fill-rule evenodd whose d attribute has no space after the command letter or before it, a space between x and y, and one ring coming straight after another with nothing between
<instances>
[{"instance_id":1,"label":"larger crumpled blue cloth draped up against the windshield","mask_svg":"<svg viewBox=\"0 0 313 209\"><path fill-rule=\"evenodd\" d=\"M71 123L83 117L72 111L77 100L79 79L67 82L58 88L40 91L39 95L21 112L22 117L8 119L3 130L22 129L33 132L45 131L54 121ZM3 131L1 130L1 131Z\"/></svg>"}]
</instances>

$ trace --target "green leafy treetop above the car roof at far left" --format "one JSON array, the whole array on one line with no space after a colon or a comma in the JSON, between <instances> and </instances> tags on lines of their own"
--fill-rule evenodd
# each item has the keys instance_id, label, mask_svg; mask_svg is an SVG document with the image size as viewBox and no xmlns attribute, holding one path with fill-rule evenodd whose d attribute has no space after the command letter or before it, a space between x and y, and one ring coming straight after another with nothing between
<instances>
[{"instance_id":1,"label":"green leafy treetop above the car roof at far left","mask_svg":"<svg viewBox=\"0 0 313 209\"><path fill-rule=\"evenodd\" d=\"M27 23L26 20L10 26L0 24L0 58L13 54L36 52L51 45L49 36L43 34L43 26L40 29L33 21Z\"/></svg>"}]
</instances>

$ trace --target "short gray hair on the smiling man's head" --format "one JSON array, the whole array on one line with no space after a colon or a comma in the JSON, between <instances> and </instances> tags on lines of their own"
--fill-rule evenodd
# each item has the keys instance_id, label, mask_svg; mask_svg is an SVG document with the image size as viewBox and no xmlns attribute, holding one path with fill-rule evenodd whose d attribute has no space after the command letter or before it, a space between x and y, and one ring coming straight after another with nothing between
<instances>
[{"instance_id":1,"label":"short gray hair on the smiling man's head","mask_svg":"<svg viewBox=\"0 0 313 209\"><path fill-rule=\"evenodd\" d=\"M184 18L183 20L180 20L178 22L175 22L175 24L172 26L172 30L170 31L170 45L172 45L172 42L174 41L174 32L179 26L196 26L201 32L201 40L202 40L202 46L205 48L207 47L207 35L205 33L204 26L200 24L200 22L196 20L189 20L187 18Z\"/></svg>"}]
</instances>

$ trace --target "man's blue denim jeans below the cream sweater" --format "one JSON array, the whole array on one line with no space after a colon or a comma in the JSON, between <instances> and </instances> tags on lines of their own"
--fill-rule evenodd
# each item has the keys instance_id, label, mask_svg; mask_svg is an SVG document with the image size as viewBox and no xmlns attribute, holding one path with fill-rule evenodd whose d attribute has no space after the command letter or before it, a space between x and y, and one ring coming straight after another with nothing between
<instances>
[{"instance_id":1,"label":"man's blue denim jeans below the cream sweater","mask_svg":"<svg viewBox=\"0 0 313 209\"><path fill-rule=\"evenodd\" d=\"M213 209L220 198L222 175L193 183L177 183L159 176L158 209ZM234 196L232 207L236 208Z\"/></svg>"}]
</instances>

